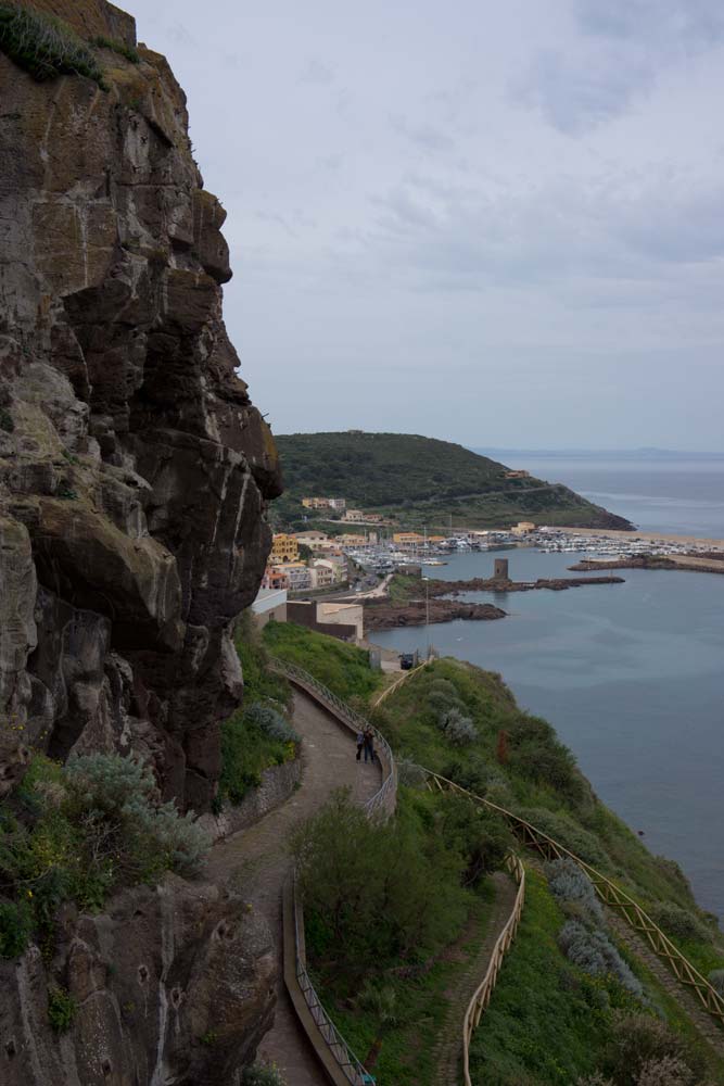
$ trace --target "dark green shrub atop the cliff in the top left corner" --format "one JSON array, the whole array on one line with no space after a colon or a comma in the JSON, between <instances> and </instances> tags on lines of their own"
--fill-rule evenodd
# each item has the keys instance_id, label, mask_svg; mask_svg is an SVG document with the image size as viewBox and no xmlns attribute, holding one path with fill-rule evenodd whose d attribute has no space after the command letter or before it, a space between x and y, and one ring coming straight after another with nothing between
<instances>
[{"instance_id":1,"label":"dark green shrub atop the cliff in the top left corner","mask_svg":"<svg viewBox=\"0 0 724 1086\"><path fill-rule=\"evenodd\" d=\"M106 89L96 58L59 18L0 0L0 50L38 80L84 75Z\"/></svg>"}]
</instances>

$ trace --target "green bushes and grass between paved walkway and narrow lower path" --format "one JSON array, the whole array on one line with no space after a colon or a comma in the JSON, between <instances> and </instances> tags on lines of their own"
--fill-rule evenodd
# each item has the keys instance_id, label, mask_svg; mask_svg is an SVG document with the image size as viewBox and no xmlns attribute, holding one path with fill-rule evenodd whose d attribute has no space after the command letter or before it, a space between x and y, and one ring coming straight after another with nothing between
<instances>
[{"instance_id":1,"label":"green bushes and grass between paved walkway and narrow lower path","mask_svg":"<svg viewBox=\"0 0 724 1086\"><path fill-rule=\"evenodd\" d=\"M437 1083L436 1031L420 1023L444 1020L462 947L490 913L487 873L509 844L495 816L407 788L390 822L370 822L338 793L297 833L309 968L381 1082Z\"/></svg>"}]
</instances>

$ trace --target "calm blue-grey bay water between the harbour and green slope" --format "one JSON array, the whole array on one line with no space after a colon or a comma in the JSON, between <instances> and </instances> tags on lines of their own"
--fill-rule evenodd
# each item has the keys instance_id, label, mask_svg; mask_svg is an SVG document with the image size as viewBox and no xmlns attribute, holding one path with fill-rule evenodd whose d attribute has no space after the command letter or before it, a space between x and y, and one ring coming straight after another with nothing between
<instances>
[{"instance_id":1,"label":"calm blue-grey bay water between the harbour and green slope","mask_svg":"<svg viewBox=\"0 0 724 1086\"><path fill-rule=\"evenodd\" d=\"M660 495L656 517L665 520L647 527L724 538L724 505L716 513L709 494L696 505L690 492ZM644 526L633 515L640 500L605 504ZM675 508L689 519L679 525ZM505 556L516 580L564 576L579 557L526 548ZM430 574L467 579L492 567L492 554L459 554ZM724 576L621 573L624 584L474 593L508 618L431 626L430 639L443 655L499 671L523 707L556 727L604 801L644 831L652 851L677 860L699 902L724 917ZM374 640L424 648L427 632L390 630Z\"/></svg>"}]
</instances>

